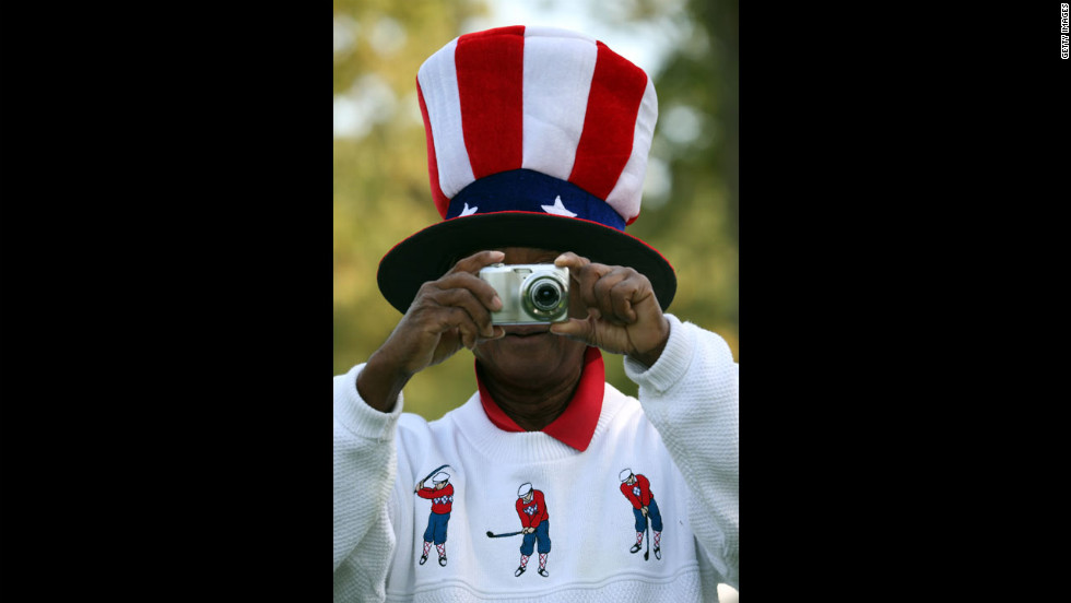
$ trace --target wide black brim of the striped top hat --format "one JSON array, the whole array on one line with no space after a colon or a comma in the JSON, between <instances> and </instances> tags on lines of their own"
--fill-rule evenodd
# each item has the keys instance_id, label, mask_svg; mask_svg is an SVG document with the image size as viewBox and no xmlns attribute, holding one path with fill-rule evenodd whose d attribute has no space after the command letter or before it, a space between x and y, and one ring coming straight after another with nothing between
<instances>
[{"instance_id":1,"label":"wide black brim of the striped top hat","mask_svg":"<svg viewBox=\"0 0 1071 603\"><path fill-rule=\"evenodd\" d=\"M405 314L424 283L476 251L504 247L573 251L596 263L635 269L650 281L662 311L676 294L673 267L643 240L598 222L531 212L474 214L420 230L380 260L379 291Z\"/></svg>"}]
</instances>

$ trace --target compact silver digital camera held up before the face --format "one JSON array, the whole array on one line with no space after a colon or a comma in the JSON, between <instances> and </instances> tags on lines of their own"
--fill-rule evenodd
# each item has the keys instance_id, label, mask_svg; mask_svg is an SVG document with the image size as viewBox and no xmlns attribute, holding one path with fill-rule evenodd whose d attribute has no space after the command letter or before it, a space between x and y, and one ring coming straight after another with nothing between
<instances>
[{"instance_id":1,"label":"compact silver digital camera held up before the face","mask_svg":"<svg viewBox=\"0 0 1071 603\"><path fill-rule=\"evenodd\" d=\"M492 324L545 324L569 319L569 269L554 264L491 264L480 277L498 293Z\"/></svg>"}]
</instances>

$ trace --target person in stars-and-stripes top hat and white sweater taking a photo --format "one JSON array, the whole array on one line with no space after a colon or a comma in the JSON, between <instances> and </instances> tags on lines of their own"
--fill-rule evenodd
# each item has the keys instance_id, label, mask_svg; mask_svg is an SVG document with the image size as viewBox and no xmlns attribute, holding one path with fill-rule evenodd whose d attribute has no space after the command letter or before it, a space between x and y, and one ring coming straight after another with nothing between
<instances>
[{"instance_id":1,"label":"person in stars-and-stripes top hat and white sweater taking a photo","mask_svg":"<svg viewBox=\"0 0 1071 603\"><path fill-rule=\"evenodd\" d=\"M518 26L460 36L416 80L445 220L382 258L380 292L403 316L334 378L336 601L716 601L718 582L739 588L738 366L721 338L666 314L672 265L624 232L657 117L650 79L589 37ZM495 263L567 268L568 319L496 324L503 296L479 277ZM438 421L402 413L405 383L462 347L476 392ZM624 356L638 400L605 382L603 352ZM466 498L454 563L433 572L413 563L410 484L440 459ZM601 512L620 504L607 468L639 463L676 531L668 563L643 572ZM521 482L568 501L558 569L534 582L506 578L489 531L515 521L494 493ZM536 492L518 493L521 512ZM543 522L522 530L541 553Z\"/></svg>"}]
</instances>

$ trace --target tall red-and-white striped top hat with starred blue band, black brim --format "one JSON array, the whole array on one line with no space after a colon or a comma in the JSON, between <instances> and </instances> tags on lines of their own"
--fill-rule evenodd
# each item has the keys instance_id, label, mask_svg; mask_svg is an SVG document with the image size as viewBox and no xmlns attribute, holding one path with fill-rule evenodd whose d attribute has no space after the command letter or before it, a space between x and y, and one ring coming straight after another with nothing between
<instances>
[{"instance_id":1,"label":"tall red-and-white striped top hat with starred blue band, black brim","mask_svg":"<svg viewBox=\"0 0 1071 603\"><path fill-rule=\"evenodd\" d=\"M502 247L631 267L669 307L672 265L625 233L658 118L647 73L582 34L518 25L455 38L421 66L416 91L444 220L379 262L395 308L404 314L452 262Z\"/></svg>"}]
</instances>

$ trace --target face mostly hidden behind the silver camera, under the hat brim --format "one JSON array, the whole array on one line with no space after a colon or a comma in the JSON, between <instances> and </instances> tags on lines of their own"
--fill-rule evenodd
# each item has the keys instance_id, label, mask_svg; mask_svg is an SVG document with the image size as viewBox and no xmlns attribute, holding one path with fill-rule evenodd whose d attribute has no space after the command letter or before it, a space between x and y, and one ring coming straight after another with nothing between
<instances>
[{"instance_id":1,"label":"face mostly hidden behind the silver camera, under the hat brim","mask_svg":"<svg viewBox=\"0 0 1071 603\"><path fill-rule=\"evenodd\" d=\"M508 247L503 263L553 263L561 252L528 247ZM578 298L570 295L569 316L584 318L587 312ZM503 326L506 336L476 345L473 355L490 371L520 382L562 379L584 362L584 343L552 334L550 324Z\"/></svg>"}]
</instances>

